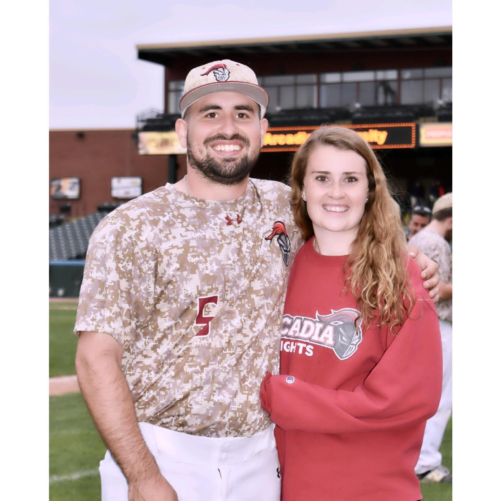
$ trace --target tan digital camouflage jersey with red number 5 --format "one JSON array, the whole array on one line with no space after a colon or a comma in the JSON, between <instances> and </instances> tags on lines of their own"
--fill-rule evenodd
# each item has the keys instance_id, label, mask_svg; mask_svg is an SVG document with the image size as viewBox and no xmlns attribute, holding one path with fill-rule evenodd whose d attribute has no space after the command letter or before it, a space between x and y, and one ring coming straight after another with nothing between
<instances>
[{"instance_id":1,"label":"tan digital camouflage jersey with red number 5","mask_svg":"<svg viewBox=\"0 0 501 501\"><path fill-rule=\"evenodd\" d=\"M267 371L278 373L301 244L289 196L284 184L258 179L228 202L167 184L96 228L75 333L109 333L125 348L139 421L205 436L250 436L270 424L259 389ZM291 240L288 266L277 239L266 240L277 220Z\"/></svg>"}]
</instances>

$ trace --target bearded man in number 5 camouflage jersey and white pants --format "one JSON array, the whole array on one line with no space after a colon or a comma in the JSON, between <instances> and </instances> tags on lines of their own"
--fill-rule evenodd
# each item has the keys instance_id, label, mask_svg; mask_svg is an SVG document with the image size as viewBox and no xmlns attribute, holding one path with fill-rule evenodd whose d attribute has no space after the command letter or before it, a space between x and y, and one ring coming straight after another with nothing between
<instances>
[{"instance_id":1,"label":"bearded man in number 5 camouflage jersey and white pants","mask_svg":"<svg viewBox=\"0 0 501 501\"><path fill-rule=\"evenodd\" d=\"M91 238L76 366L109 448L105 500L280 498L259 389L278 373L301 241L290 188L249 179L268 102L242 64L191 70L176 122L187 175L122 205Z\"/></svg>"}]
</instances>

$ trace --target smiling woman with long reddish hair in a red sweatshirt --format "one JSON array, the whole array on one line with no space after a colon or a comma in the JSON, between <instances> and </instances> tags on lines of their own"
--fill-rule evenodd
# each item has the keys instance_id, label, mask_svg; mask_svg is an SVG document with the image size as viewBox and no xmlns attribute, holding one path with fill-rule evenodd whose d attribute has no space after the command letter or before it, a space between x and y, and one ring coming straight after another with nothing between
<instances>
[{"instance_id":1,"label":"smiling woman with long reddish hair in a red sweatshirt","mask_svg":"<svg viewBox=\"0 0 501 501\"><path fill-rule=\"evenodd\" d=\"M440 334L384 173L358 134L323 127L296 154L291 185L307 241L289 279L280 375L261 389L282 499L421 499L414 466L440 399Z\"/></svg>"}]
</instances>

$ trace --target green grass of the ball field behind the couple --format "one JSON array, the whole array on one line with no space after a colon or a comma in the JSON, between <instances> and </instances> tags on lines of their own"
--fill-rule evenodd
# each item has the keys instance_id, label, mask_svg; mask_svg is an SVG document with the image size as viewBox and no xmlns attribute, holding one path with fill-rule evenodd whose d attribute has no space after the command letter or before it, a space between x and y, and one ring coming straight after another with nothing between
<instances>
[{"instance_id":1,"label":"green grass of the ball field behind the couple","mask_svg":"<svg viewBox=\"0 0 501 501\"><path fill-rule=\"evenodd\" d=\"M71 308L71 309L69 309ZM50 375L75 373L76 303L50 303ZM106 447L80 393L49 397L49 492L51 501L98 501L99 461ZM452 419L442 442L443 464L452 469ZM421 484L425 501L451 501L452 486Z\"/></svg>"}]
</instances>

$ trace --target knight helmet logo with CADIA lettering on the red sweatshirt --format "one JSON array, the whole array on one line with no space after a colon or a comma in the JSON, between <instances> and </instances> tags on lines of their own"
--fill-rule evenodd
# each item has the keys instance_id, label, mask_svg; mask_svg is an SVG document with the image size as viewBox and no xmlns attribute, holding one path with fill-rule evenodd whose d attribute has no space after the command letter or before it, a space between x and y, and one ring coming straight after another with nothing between
<instances>
[{"instance_id":1,"label":"knight helmet logo with CADIA lettering on the red sweatshirt","mask_svg":"<svg viewBox=\"0 0 501 501\"><path fill-rule=\"evenodd\" d=\"M362 342L361 326L360 312L352 308L331 310L328 315L317 311L314 319L284 315L282 338L330 348L340 360L346 360Z\"/></svg>"}]
</instances>

